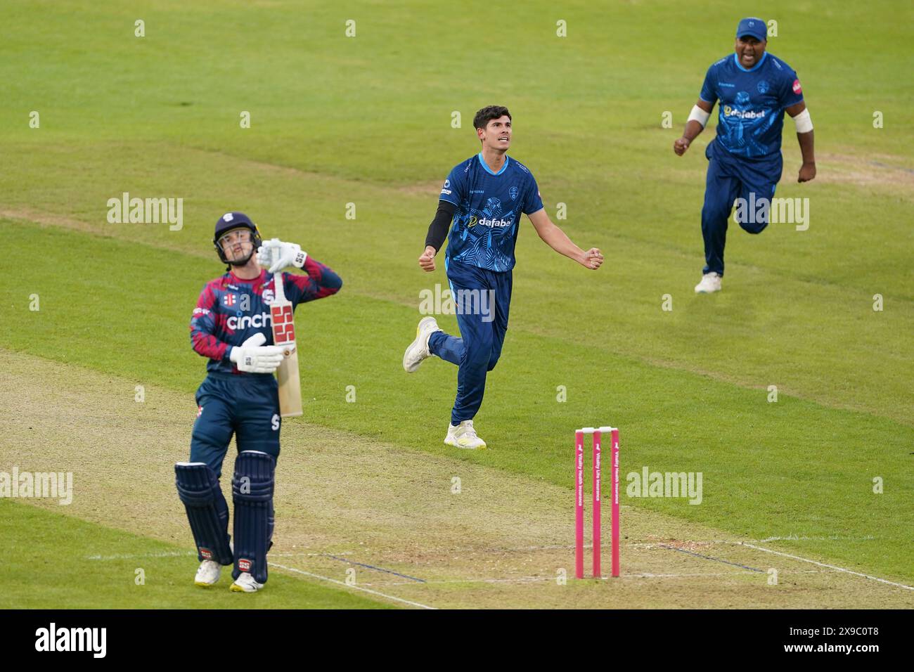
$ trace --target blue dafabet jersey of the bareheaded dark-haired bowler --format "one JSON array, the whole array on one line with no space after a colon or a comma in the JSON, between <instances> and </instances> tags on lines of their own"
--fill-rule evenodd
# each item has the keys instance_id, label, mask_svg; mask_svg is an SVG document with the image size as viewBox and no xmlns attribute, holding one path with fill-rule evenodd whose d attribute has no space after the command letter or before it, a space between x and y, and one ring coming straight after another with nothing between
<instances>
[{"instance_id":1,"label":"blue dafabet jersey of the bareheaded dark-haired bowler","mask_svg":"<svg viewBox=\"0 0 914 672\"><path fill-rule=\"evenodd\" d=\"M456 206L446 261L489 271L510 271L521 214L543 208L537 180L519 161L505 155L497 173L482 153L455 165L441 187L441 200Z\"/></svg>"}]
</instances>

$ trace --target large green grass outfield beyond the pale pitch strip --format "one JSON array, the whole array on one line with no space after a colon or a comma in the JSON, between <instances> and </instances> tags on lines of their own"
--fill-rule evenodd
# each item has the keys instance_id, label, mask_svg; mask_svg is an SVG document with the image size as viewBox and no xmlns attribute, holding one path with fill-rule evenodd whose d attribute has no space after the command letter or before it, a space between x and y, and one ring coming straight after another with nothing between
<instances>
[{"instance_id":1,"label":"large green grass outfield beyond the pale pitch strip","mask_svg":"<svg viewBox=\"0 0 914 672\"><path fill-rule=\"evenodd\" d=\"M0 347L192 404L204 361L187 323L221 272L212 227L240 209L344 279L298 313L307 421L569 493L572 430L611 423L623 479L643 465L704 474L701 506L626 504L754 539L797 537L778 548L914 581L914 92L900 74L914 66L914 10L766 5L779 22L769 50L797 69L815 123L819 175L796 184L788 122L778 188L810 198L810 229L731 227L724 292L696 296L713 129L685 157L671 146L707 66L755 11L702 7L530 2L502 22L484 3L5 3L0 23L16 30L0 60ZM146 37L133 37L138 18ZM568 37L556 37L559 19ZM476 421L491 450L454 454L441 436L456 370L432 360L407 377L400 359L420 291L447 282L416 263L438 187L477 151L473 112L493 102L514 114L509 154L537 176L550 215L567 204L557 223L607 261L585 271L525 219L505 350ZM661 127L665 111L673 129ZM107 199L123 191L183 197L184 228L108 224ZM440 322L454 331L452 316ZM13 464L7 444L0 471ZM18 513L5 534L33 525L55 523ZM91 534L100 553L130 545ZM312 589L317 604L361 604L290 588ZM84 604L73 590L61 579L57 595ZM112 595L111 606L129 604Z\"/></svg>"}]
</instances>

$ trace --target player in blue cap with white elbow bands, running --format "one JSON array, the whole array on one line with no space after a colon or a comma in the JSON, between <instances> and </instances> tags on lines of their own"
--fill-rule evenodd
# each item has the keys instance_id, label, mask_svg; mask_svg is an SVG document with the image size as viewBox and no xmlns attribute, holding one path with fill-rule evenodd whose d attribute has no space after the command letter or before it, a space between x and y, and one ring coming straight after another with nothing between
<instances>
[{"instance_id":1,"label":"player in blue cap with white elbow bands, running","mask_svg":"<svg viewBox=\"0 0 914 672\"><path fill-rule=\"evenodd\" d=\"M696 293L720 291L724 276L724 244L727 219L737 198L745 199L739 226L760 233L768 226L771 198L781 179L781 129L784 112L796 125L802 152L798 182L815 177L813 122L802 97L796 72L768 53L768 27L760 18L749 17L737 27L735 54L707 69L705 84L683 136L673 144L682 156L701 133L718 106L717 137L705 150L707 182L701 209L701 233L705 239L705 268ZM740 215L740 208L737 210Z\"/></svg>"}]
</instances>

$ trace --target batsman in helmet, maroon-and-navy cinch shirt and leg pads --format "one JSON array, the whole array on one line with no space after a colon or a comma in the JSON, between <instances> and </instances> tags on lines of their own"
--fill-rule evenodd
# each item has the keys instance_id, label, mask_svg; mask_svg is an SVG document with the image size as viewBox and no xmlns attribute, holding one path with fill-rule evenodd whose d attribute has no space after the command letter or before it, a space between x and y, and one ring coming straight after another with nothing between
<instances>
[{"instance_id":1,"label":"batsman in helmet, maroon-and-navy cinch shirt and leg pads","mask_svg":"<svg viewBox=\"0 0 914 672\"><path fill-rule=\"evenodd\" d=\"M207 378L197 389L190 460L175 464L175 481L197 545L197 585L214 585L222 566L233 564L230 589L257 592L267 582L282 424L272 375L283 357L282 347L272 345L275 283L282 283L297 306L337 293L343 281L298 245L261 242L257 226L241 212L218 219L213 244L228 272L203 288L190 321L191 344L208 357ZM305 274L282 272L288 267ZM219 487L232 434L238 445L231 482L234 548L228 503Z\"/></svg>"}]
</instances>

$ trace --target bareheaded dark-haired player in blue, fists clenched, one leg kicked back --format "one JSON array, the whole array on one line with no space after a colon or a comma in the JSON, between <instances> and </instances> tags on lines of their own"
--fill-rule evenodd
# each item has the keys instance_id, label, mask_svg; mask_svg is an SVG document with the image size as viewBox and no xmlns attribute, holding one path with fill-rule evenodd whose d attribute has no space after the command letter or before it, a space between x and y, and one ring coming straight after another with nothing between
<instances>
[{"instance_id":1,"label":"bareheaded dark-haired player in blue, fists clenched, one leg kicked back","mask_svg":"<svg viewBox=\"0 0 914 672\"><path fill-rule=\"evenodd\" d=\"M603 262L600 250L581 250L549 220L537 180L526 165L507 155L512 133L508 109L484 107L476 112L473 127L482 151L454 166L444 180L419 258L423 271L434 271L435 255L448 238L444 270L461 336L445 334L434 317L423 317L403 355L408 373L432 355L457 365L457 397L444 443L469 450L485 448L473 417L483 403L485 375L495 367L505 342L521 214L559 254L593 271Z\"/></svg>"}]
</instances>

